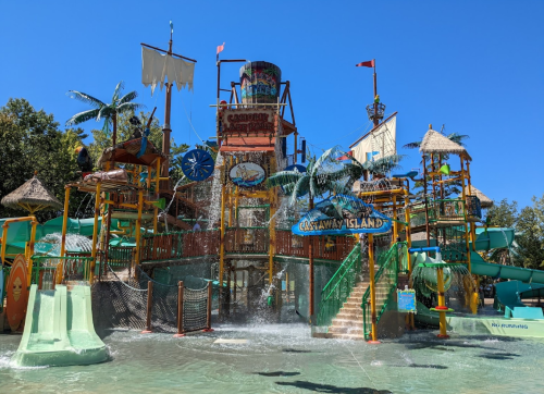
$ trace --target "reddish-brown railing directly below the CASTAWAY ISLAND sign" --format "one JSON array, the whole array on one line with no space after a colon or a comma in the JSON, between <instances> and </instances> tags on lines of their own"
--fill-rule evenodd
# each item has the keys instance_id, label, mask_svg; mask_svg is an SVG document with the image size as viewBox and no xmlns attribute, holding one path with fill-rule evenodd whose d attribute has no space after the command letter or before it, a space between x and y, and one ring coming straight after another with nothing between
<instances>
[{"instance_id":1,"label":"reddish-brown railing directly below the CASTAWAY ISLAND sign","mask_svg":"<svg viewBox=\"0 0 544 394\"><path fill-rule=\"evenodd\" d=\"M310 243L313 258L343 261L354 249L357 239L346 235L299 236L290 230L276 230L276 255L308 258Z\"/></svg>"}]
</instances>

